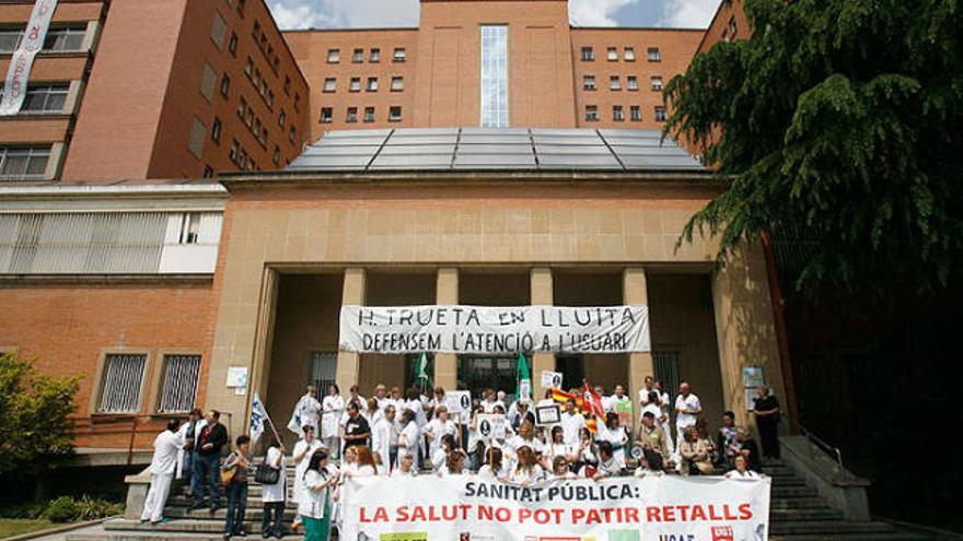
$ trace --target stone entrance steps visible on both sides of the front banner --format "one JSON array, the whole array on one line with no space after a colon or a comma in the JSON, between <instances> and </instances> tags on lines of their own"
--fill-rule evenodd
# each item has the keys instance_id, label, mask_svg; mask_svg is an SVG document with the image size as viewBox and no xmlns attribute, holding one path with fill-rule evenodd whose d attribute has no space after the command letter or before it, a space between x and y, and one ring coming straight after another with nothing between
<instances>
[{"instance_id":1,"label":"stone entrance steps visible on both sides of the front banner","mask_svg":"<svg viewBox=\"0 0 963 541\"><path fill-rule=\"evenodd\" d=\"M808 486L804 479L782 462L765 467L773 478L770 537L773 541L924 541L931 539L919 533L898 530L889 522L854 522L844 519L843 513L832 508L820 497L816 490ZM288 490L293 485L293 469L288 468ZM253 478L253 475L252 475ZM248 539L260 539L262 487L252 480L247 495L245 530ZM227 507L227 497L221 504ZM209 509L189 510L190 498L186 486L172 489L164 514L171 520L156 526L140 524L137 519L116 518L104 522L103 531L67 536L68 541L158 541L171 540L222 540L227 508L213 515ZM299 541L301 534L290 533L295 506L288 504L285 510L285 539ZM303 533L301 530L300 533Z\"/></svg>"}]
</instances>

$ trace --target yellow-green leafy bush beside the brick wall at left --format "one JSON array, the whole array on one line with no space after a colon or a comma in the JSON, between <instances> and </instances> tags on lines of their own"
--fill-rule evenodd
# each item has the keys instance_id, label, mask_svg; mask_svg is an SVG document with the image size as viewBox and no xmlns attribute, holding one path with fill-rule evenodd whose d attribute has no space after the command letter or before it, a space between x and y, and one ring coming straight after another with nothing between
<instances>
[{"instance_id":1,"label":"yellow-green leafy bush beside the brick wall at left","mask_svg":"<svg viewBox=\"0 0 963 541\"><path fill-rule=\"evenodd\" d=\"M42 473L71 450L79 377L38 374L15 353L0 355L0 475Z\"/></svg>"}]
</instances>

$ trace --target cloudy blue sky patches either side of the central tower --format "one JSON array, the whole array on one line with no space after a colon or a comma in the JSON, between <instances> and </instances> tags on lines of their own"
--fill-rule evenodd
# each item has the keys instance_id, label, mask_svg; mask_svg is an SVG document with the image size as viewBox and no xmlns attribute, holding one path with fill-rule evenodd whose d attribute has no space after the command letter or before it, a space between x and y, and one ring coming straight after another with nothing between
<instances>
[{"instance_id":1,"label":"cloudy blue sky patches either side of the central tower","mask_svg":"<svg viewBox=\"0 0 963 541\"><path fill-rule=\"evenodd\" d=\"M569 0L576 26L705 28L720 0ZM268 0L281 30L418 25L418 0Z\"/></svg>"}]
</instances>

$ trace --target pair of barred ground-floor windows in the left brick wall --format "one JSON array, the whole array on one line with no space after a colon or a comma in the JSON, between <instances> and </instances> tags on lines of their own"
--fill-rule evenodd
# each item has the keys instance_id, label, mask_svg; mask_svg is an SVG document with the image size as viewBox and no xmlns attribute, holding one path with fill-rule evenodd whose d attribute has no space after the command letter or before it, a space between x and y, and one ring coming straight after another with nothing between
<instances>
[{"instance_id":1,"label":"pair of barred ground-floor windows in the left brick wall","mask_svg":"<svg viewBox=\"0 0 963 541\"><path fill-rule=\"evenodd\" d=\"M200 355L167 354L162 363L158 401L154 404L156 412L183 413L193 410L197 400ZM104 357L96 412L140 412L147 374L146 353L108 353Z\"/></svg>"}]
</instances>

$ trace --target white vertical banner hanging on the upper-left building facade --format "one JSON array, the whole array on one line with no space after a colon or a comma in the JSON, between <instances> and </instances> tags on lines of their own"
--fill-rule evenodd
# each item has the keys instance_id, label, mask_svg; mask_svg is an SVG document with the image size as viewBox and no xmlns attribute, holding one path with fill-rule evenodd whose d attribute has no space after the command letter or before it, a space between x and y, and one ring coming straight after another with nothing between
<instances>
[{"instance_id":1,"label":"white vertical banner hanging on the upper-left building facade","mask_svg":"<svg viewBox=\"0 0 963 541\"><path fill-rule=\"evenodd\" d=\"M23 33L20 46L10 58L10 67L7 69L7 83L3 85L3 99L0 101L0 116L11 116L20 113L23 98L26 96L30 71L34 64L34 57L44 48L47 38L47 28L57 9L57 0L36 0L31 13L30 22Z\"/></svg>"}]
</instances>

